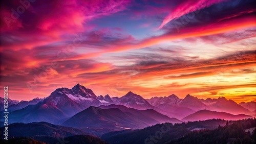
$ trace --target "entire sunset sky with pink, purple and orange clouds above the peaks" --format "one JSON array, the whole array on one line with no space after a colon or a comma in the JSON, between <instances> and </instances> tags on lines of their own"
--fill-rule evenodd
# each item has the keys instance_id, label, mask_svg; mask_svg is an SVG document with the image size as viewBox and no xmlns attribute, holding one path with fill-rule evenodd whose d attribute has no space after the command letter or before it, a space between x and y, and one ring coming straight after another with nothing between
<instances>
[{"instance_id":1,"label":"entire sunset sky with pink, purple and orange clouds above the peaks","mask_svg":"<svg viewBox=\"0 0 256 144\"><path fill-rule=\"evenodd\" d=\"M1 86L19 101L77 83L111 97L256 101L254 3L5 1Z\"/></svg>"}]
</instances>

